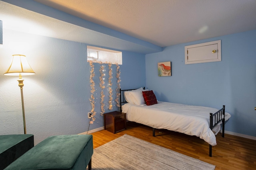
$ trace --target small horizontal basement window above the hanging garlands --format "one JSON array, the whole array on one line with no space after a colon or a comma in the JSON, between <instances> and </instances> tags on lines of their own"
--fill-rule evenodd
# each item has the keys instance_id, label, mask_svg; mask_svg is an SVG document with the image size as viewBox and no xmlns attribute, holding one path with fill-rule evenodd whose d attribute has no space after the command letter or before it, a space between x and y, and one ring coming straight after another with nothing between
<instances>
[{"instance_id":1,"label":"small horizontal basement window above the hanging garlands","mask_svg":"<svg viewBox=\"0 0 256 170\"><path fill-rule=\"evenodd\" d=\"M87 46L87 61L93 63L122 64L122 52Z\"/></svg>"}]
</instances>

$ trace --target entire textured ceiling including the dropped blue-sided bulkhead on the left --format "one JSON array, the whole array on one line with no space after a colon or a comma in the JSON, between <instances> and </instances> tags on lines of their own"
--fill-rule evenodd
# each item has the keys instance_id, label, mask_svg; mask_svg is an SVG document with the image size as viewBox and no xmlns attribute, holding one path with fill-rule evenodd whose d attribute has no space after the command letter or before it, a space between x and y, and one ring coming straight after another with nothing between
<instances>
[{"instance_id":1,"label":"entire textured ceiling including the dropped blue-sided bulkhead on the left","mask_svg":"<svg viewBox=\"0 0 256 170\"><path fill-rule=\"evenodd\" d=\"M6 29L148 54L256 29L255 9L256 0L2 0L0 20Z\"/></svg>"}]
</instances>

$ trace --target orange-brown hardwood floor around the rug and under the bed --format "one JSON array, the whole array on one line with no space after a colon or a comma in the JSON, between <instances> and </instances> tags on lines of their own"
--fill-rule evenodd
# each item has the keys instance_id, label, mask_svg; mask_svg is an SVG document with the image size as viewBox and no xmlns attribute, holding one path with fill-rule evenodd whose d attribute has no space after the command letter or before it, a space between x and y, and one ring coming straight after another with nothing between
<instances>
[{"instance_id":1,"label":"orange-brown hardwood floor around the rug and under the bed","mask_svg":"<svg viewBox=\"0 0 256 170\"><path fill-rule=\"evenodd\" d=\"M212 147L212 157L210 157L208 143L199 137L168 130L156 130L156 137L153 137L151 127L132 122L127 123L126 130L116 134L106 130L91 134L94 148L127 134L214 164L215 170L256 170L256 141L233 135L225 134L222 138L219 133L216 136L217 145Z\"/></svg>"}]
</instances>

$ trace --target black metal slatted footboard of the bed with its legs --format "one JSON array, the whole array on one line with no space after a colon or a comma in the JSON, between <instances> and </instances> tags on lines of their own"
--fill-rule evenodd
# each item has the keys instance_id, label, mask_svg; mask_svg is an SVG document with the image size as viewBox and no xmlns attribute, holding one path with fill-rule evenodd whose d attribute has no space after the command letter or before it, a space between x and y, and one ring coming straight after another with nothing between
<instances>
[{"instance_id":1,"label":"black metal slatted footboard of the bed with its legs","mask_svg":"<svg viewBox=\"0 0 256 170\"><path fill-rule=\"evenodd\" d=\"M210 129L212 130L218 123L222 121L222 137L224 137L225 130L225 105L216 113L210 113ZM209 145L209 156L212 157L212 145Z\"/></svg>"}]
</instances>

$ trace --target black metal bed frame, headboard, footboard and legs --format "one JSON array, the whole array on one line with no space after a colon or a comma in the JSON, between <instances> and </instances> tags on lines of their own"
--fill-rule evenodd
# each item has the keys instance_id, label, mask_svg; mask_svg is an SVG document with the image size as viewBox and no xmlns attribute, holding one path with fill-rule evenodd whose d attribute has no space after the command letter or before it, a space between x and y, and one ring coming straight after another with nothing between
<instances>
[{"instance_id":1,"label":"black metal bed frame, headboard, footboard and legs","mask_svg":"<svg viewBox=\"0 0 256 170\"><path fill-rule=\"evenodd\" d=\"M145 87L143 88L145 89ZM128 103L124 98L124 92L136 90L136 89L128 89L128 90L121 90L120 89L120 111L122 112L122 104ZM224 130L225 130L225 105L223 105L222 109L217 111L216 113L210 113L210 129L212 130L218 123L222 121L222 137L224 137ZM153 128L153 137L155 137L156 128ZM212 157L212 145L209 144L209 156Z\"/></svg>"}]
</instances>

